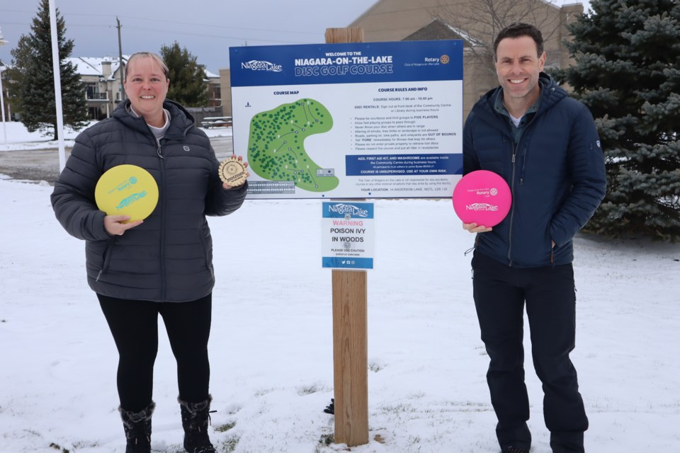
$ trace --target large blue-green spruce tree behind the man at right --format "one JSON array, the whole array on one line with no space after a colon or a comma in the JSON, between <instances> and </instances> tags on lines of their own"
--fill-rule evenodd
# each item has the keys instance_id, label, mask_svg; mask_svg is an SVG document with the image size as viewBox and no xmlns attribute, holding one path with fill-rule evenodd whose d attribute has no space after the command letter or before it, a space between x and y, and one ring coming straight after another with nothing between
<instances>
[{"instance_id":1,"label":"large blue-green spruce tree behind the man at right","mask_svg":"<svg viewBox=\"0 0 680 453\"><path fill-rule=\"evenodd\" d=\"M680 239L680 2L593 0L570 25L577 64L555 72L596 118L607 194L588 225Z\"/></svg>"}]
</instances>

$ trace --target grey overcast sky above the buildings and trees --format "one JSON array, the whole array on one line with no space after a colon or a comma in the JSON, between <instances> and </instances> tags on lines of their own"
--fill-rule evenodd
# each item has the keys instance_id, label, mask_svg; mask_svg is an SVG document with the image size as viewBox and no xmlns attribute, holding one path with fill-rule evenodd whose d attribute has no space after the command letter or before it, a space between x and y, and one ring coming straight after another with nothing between
<instances>
[{"instance_id":1,"label":"grey overcast sky above the buildings and trees","mask_svg":"<svg viewBox=\"0 0 680 453\"><path fill-rule=\"evenodd\" d=\"M123 55L159 52L177 41L218 74L229 67L229 47L325 42L327 28L346 27L376 0L54 1L66 21L67 38L74 40L72 57L118 56L118 17ZM0 0L0 30L8 41L0 46L0 59L11 63L10 50L30 33L39 3Z\"/></svg>"}]
</instances>

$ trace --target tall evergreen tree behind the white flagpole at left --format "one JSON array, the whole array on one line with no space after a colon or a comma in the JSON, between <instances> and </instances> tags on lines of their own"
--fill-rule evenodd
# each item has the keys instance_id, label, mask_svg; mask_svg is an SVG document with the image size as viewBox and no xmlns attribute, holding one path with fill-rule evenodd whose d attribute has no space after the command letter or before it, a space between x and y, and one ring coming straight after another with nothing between
<instances>
[{"instance_id":1,"label":"tall evergreen tree behind the white flagpole at left","mask_svg":"<svg viewBox=\"0 0 680 453\"><path fill-rule=\"evenodd\" d=\"M29 132L48 132L51 129L56 140L59 137L49 0L40 0L38 15L33 18L30 29L31 33L21 35L17 47L11 50L13 69L8 77L12 83L8 85L15 96L13 108L21 115L21 122ZM74 65L67 61L73 50L73 40L67 40L65 33L64 18L57 11L63 120L64 125L79 130L87 120L85 86Z\"/></svg>"}]
</instances>

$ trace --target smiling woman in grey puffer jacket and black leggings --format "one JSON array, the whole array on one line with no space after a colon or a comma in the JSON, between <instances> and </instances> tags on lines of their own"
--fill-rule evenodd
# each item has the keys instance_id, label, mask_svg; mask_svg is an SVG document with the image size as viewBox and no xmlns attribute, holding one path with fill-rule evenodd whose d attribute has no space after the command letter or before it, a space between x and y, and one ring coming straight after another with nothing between
<instances>
[{"instance_id":1,"label":"smiling woman in grey puffer jacket and black leggings","mask_svg":"<svg viewBox=\"0 0 680 453\"><path fill-rule=\"evenodd\" d=\"M210 140L181 105L166 100L169 84L161 57L132 55L125 67L128 100L79 134L52 193L59 222L86 241L87 280L118 348L126 453L151 449L158 314L177 361L184 448L215 452L207 432L215 277L205 216L234 212L247 189L220 181ZM98 179L121 164L145 168L159 186L157 207L143 221L125 223L130 217L97 209Z\"/></svg>"}]
</instances>

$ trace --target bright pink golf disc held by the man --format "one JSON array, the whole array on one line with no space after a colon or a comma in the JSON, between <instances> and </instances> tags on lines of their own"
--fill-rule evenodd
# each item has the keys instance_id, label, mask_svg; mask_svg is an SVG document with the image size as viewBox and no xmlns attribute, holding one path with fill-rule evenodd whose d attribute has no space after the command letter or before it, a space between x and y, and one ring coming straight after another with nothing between
<instances>
[{"instance_id":1,"label":"bright pink golf disc held by the man","mask_svg":"<svg viewBox=\"0 0 680 453\"><path fill-rule=\"evenodd\" d=\"M495 226L506 217L511 203L508 184L492 171L467 173L453 189L453 210L466 224Z\"/></svg>"}]
</instances>

